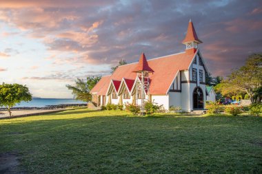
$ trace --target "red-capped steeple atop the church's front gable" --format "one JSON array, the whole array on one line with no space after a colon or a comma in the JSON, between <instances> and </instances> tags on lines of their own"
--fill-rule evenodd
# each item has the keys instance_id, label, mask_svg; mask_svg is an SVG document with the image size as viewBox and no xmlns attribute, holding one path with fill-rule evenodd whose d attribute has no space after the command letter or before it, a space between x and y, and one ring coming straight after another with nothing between
<instances>
[{"instance_id":1,"label":"red-capped steeple atop the church's front gable","mask_svg":"<svg viewBox=\"0 0 262 174\"><path fill-rule=\"evenodd\" d=\"M188 32L182 43L185 44L185 52L188 54L194 54L198 48L198 44L202 43L202 41L200 41L196 35L196 31L194 30L194 25L191 19L188 23Z\"/></svg>"}]
</instances>

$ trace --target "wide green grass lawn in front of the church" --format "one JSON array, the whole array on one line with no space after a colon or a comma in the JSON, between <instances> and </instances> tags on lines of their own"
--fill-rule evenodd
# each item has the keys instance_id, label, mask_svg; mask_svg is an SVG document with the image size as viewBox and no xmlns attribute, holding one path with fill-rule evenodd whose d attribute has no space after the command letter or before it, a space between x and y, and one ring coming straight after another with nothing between
<instances>
[{"instance_id":1,"label":"wide green grass lawn in front of the church","mask_svg":"<svg viewBox=\"0 0 262 174\"><path fill-rule=\"evenodd\" d=\"M23 173L262 173L261 117L75 109L0 120L0 138Z\"/></svg>"}]
</instances>

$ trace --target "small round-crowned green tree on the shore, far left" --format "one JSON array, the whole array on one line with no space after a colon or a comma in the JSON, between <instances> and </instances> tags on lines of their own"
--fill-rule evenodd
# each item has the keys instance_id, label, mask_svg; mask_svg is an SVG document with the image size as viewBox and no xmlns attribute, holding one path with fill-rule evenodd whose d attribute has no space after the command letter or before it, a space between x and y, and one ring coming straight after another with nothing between
<instances>
[{"instance_id":1,"label":"small round-crowned green tree on the shore, far left","mask_svg":"<svg viewBox=\"0 0 262 174\"><path fill-rule=\"evenodd\" d=\"M32 100L32 94L26 85L6 84L0 85L0 105L8 107L9 116L11 116L11 107L19 104L21 101Z\"/></svg>"}]
</instances>

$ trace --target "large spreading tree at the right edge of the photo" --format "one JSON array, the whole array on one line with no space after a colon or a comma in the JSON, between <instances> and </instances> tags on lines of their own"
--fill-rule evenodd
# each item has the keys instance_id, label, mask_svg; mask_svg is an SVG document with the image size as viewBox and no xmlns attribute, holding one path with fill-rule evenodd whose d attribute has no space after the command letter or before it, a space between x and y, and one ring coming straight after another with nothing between
<instances>
[{"instance_id":1,"label":"large spreading tree at the right edge of the photo","mask_svg":"<svg viewBox=\"0 0 262 174\"><path fill-rule=\"evenodd\" d=\"M262 54L248 56L245 65L233 70L222 83L222 90L235 94L242 92L250 96L252 103L259 102L262 95Z\"/></svg>"}]
</instances>

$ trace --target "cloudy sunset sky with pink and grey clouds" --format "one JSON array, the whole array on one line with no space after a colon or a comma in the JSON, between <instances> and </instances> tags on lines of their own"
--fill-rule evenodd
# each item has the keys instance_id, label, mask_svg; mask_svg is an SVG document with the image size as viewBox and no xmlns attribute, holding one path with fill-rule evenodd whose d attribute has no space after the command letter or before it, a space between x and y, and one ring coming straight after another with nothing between
<instances>
[{"instance_id":1,"label":"cloudy sunset sky with pink and grey clouds","mask_svg":"<svg viewBox=\"0 0 262 174\"><path fill-rule=\"evenodd\" d=\"M212 76L262 52L259 0L0 0L0 83L72 98L67 84L110 74L121 59L184 52L189 19Z\"/></svg>"}]
</instances>

